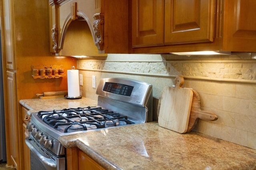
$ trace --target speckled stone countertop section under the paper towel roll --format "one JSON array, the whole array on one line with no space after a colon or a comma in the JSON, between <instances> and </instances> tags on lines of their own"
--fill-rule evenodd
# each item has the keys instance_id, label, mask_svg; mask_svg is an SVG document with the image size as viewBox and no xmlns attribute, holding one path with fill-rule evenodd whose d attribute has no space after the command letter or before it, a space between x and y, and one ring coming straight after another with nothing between
<instances>
[{"instance_id":1,"label":"speckled stone countertop section under the paper towel roll","mask_svg":"<svg viewBox=\"0 0 256 170\"><path fill-rule=\"evenodd\" d=\"M97 106L97 101L88 98L81 99L66 99L66 98L48 98L48 99L24 99L19 103L26 107L29 111L28 114L37 113L38 111L51 111L53 109L67 109L77 107Z\"/></svg>"}]
</instances>

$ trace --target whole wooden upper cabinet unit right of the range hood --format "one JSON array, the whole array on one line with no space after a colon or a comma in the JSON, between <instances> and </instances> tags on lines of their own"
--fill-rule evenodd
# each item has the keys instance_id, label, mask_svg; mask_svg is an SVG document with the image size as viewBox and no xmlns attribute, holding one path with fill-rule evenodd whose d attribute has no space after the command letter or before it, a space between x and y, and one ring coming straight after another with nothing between
<instances>
[{"instance_id":1,"label":"whole wooden upper cabinet unit right of the range hood","mask_svg":"<svg viewBox=\"0 0 256 170\"><path fill-rule=\"evenodd\" d=\"M130 53L256 52L255 0L144 1L132 0Z\"/></svg>"}]
</instances>

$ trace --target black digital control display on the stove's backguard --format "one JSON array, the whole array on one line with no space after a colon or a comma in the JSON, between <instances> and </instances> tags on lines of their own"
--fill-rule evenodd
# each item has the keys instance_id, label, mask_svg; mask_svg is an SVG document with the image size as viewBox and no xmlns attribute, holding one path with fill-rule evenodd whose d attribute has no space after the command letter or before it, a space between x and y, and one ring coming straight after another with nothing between
<instances>
[{"instance_id":1,"label":"black digital control display on the stove's backguard","mask_svg":"<svg viewBox=\"0 0 256 170\"><path fill-rule=\"evenodd\" d=\"M120 94L123 96L131 96L133 86L128 86L125 84L119 83L110 83L106 82L103 88L103 91L110 92L114 94Z\"/></svg>"}]
</instances>

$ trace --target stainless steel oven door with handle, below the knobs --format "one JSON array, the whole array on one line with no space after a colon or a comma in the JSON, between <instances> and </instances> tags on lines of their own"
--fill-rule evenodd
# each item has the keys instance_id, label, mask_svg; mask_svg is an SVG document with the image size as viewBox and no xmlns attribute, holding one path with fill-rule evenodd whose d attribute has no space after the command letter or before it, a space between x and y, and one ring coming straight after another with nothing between
<instances>
[{"instance_id":1,"label":"stainless steel oven door with handle, below the knobs","mask_svg":"<svg viewBox=\"0 0 256 170\"><path fill-rule=\"evenodd\" d=\"M65 170L65 155L56 156L31 137L25 139L30 149L30 170Z\"/></svg>"}]
</instances>

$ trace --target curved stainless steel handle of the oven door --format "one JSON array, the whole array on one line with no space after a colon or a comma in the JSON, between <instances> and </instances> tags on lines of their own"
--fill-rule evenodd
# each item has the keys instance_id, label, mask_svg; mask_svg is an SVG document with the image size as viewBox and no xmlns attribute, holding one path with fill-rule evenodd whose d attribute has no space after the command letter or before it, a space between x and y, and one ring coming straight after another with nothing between
<instances>
[{"instance_id":1,"label":"curved stainless steel handle of the oven door","mask_svg":"<svg viewBox=\"0 0 256 170\"><path fill-rule=\"evenodd\" d=\"M36 150L36 148L30 143L30 137L27 137L25 139L26 145L28 146L28 148L41 160L41 162L43 164L46 164L52 168L56 168L57 167L57 163L53 162L51 159L46 158L44 156L42 156L42 154L40 154L40 152L38 152L38 150Z\"/></svg>"}]
</instances>

